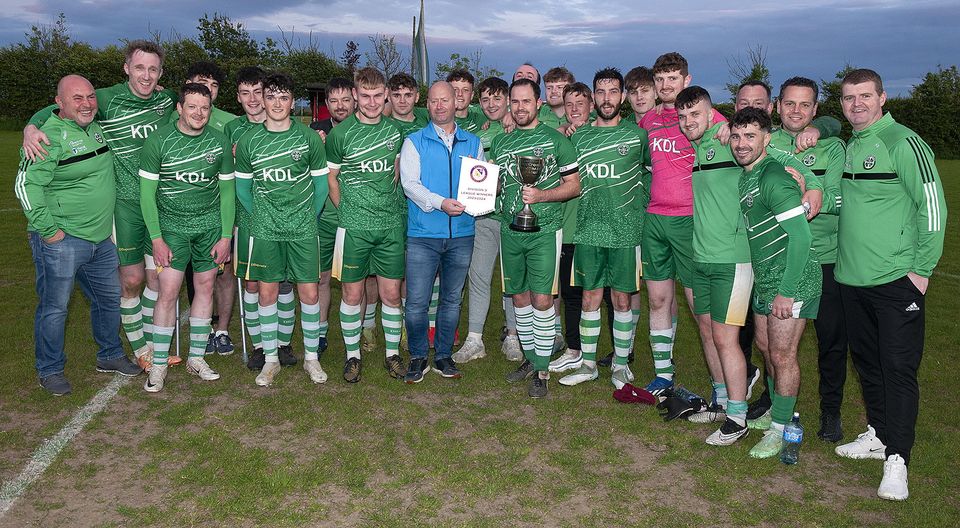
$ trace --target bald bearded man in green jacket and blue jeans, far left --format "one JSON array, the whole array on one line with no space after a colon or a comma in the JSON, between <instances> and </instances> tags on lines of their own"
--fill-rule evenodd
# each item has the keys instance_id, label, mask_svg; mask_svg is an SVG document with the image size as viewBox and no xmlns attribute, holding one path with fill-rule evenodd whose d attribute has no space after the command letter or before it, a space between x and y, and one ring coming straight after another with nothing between
<instances>
[{"instance_id":1,"label":"bald bearded man in green jacket and blue jeans, far left","mask_svg":"<svg viewBox=\"0 0 960 528\"><path fill-rule=\"evenodd\" d=\"M100 372L142 372L120 343L120 260L110 239L116 184L113 154L97 115L90 81L68 75L57 85L57 110L40 130L50 139L44 159L20 151L15 192L27 217L39 297L34 341L40 386L70 393L63 350L67 304L75 280L90 301Z\"/></svg>"}]
</instances>

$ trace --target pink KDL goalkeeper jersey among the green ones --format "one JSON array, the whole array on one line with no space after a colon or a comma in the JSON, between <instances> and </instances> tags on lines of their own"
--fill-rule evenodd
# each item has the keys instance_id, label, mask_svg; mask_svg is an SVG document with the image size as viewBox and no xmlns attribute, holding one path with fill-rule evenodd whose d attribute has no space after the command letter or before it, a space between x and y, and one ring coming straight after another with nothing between
<instances>
[{"instance_id":1,"label":"pink KDL goalkeeper jersey among the green ones","mask_svg":"<svg viewBox=\"0 0 960 528\"><path fill-rule=\"evenodd\" d=\"M713 122L726 121L713 111ZM676 108L653 109L640 119L640 127L650 139L653 179L647 212L663 216L693 215L693 160L696 154L680 132Z\"/></svg>"}]
</instances>

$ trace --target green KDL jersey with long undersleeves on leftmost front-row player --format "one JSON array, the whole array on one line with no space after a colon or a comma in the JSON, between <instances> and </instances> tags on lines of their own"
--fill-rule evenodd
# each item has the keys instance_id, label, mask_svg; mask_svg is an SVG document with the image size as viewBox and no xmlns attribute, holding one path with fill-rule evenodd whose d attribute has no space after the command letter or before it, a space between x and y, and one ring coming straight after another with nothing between
<instances>
[{"instance_id":1,"label":"green KDL jersey with long undersleeves on leftmost front-row player","mask_svg":"<svg viewBox=\"0 0 960 528\"><path fill-rule=\"evenodd\" d=\"M234 193L222 203L220 188L232 189L233 152L220 132L204 127L200 135L189 136L177 122L160 128L143 144L140 177L140 207L150 238L160 238L161 227L188 235L213 230L221 237L232 235Z\"/></svg>"}]
</instances>

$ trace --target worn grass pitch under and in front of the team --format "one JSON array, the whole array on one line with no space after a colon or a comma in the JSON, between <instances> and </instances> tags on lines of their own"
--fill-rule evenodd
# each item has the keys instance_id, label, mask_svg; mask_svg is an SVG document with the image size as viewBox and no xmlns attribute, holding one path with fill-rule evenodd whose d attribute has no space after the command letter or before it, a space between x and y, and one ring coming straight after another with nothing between
<instances>
[{"instance_id":1,"label":"worn grass pitch under and in front of the team","mask_svg":"<svg viewBox=\"0 0 960 528\"><path fill-rule=\"evenodd\" d=\"M67 329L74 392L53 398L37 385L33 268L12 192L18 141L0 133L3 482L111 380L93 369L88 306L78 293ZM938 166L954 214L930 286L906 503L876 498L881 462L839 459L816 438L812 327L801 348L807 438L800 464L788 467L747 457L756 432L711 448L703 439L713 426L664 423L650 407L617 403L606 370L592 384L552 382L547 399L530 400L525 385L503 381L516 364L499 354L502 318L491 310L489 355L464 365L459 381L431 374L404 385L377 356L365 360L363 381L348 385L336 319L321 359L330 374L324 385L295 367L258 388L239 354L210 360L223 375L217 382L178 367L162 393L148 395L141 376L0 513L0 526L957 526L960 162ZM709 393L695 325L681 311L680 381ZM644 308L638 383L652 372L645 320ZM239 328L232 333L239 342ZM298 332L298 354L299 339ZM609 350L609 336L601 343ZM852 370L843 418L848 439L865 429Z\"/></svg>"}]
</instances>

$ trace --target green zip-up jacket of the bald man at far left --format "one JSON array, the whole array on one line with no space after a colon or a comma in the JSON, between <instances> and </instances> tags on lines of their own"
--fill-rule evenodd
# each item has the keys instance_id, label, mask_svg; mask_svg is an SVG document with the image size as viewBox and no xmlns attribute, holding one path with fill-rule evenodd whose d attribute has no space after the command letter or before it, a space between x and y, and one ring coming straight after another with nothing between
<instances>
[{"instance_id":1,"label":"green zip-up jacket of the bald man at far left","mask_svg":"<svg viewBox=\"0 0 960 528\"><path fill-rule=\"evenodd\" d=\"M50 146L45 159L29 161L20 150L14 185L27 229L50 238L64 233L100 243L113 232L117 192L113 153L96 122L86 129L54 113L40 130Z\"/></svg>"}]
</instances>

